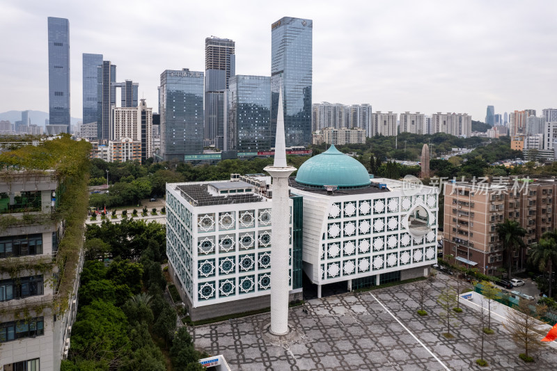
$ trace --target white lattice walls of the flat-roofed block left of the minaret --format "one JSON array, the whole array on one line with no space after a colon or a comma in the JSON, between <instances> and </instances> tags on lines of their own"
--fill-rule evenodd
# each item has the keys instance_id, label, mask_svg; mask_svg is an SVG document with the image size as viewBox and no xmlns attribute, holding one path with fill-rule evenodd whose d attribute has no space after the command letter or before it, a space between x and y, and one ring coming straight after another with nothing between
<instances>
[{"instance_id":1,"label":"white lattice walls of the flat-roofed block left of the minaret","mask_svg":"<svg viewBox=\"0 0 557 371\"><path fill-rule=\"evenodd\" d=\"M187 184L208 183L218 182ZM265 257L268 256L270 260L271 255L272 201L264 198L262 202L257 203L194 207L180 195L180 191L174 189L176 185L178 184L166 184L166 254L168 262L173 266L194 308L269 295L271 265L264 263L267 259ZM292 204L292 199L289 199L290 225L292 225ZM242 216L249 215L252 210L253 223L242 224ZM268 221L261 217L265 213L268 213ZM226 216L233 218L230 227L223 223L223 218ZM202 219L211 226L202 227ZM253 244L242 243L242 237L246 235L253 236ZM267 235L269 243L265 243ZM290 228L291 235L292 228ZM232 238L234 242L233 248L228 252L224 251L223 246L219 246L226 237ZM212 242L213 252L200 253L202 242L207 244ZM290 239L290 253L292 253L292 239ZM246 270L242 269L240 267L242 258L249 260L251 254L253 254L253 266ZM223 263L226 264L230 260L233 260L234 266L230 273L226 274ZM203 274L203 265L212 267L212 273ZM266 277L269 278L269 285ZM253 290L244 292L241 287L242 282L250 279L253 279ZM223 291L226 281L234 285L233 292ZM203 292L203 287L206 292L212 292L212 295L209 295L210 299L203 299L207 297L200 293ZM292 290L292 283L289 285L289 290Z\"/></svg>"}]
</instances>

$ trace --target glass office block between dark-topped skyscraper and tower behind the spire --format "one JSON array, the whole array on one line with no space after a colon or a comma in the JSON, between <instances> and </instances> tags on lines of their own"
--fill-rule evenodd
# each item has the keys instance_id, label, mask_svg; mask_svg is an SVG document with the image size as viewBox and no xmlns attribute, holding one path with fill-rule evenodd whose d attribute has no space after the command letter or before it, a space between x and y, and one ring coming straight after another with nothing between
<instances>
[{"instance_id":1,"label":"glass office block between dark-topped skyscraper and tower behind the spire","mask_svg":"<svg viewBox=\"0 0 557 371\"><path fill-rule=\"evenodd\" d=\"M226 150L269 150L271 139L271 78L236 75L228 88Z\"/></svg>"}]
</instances>

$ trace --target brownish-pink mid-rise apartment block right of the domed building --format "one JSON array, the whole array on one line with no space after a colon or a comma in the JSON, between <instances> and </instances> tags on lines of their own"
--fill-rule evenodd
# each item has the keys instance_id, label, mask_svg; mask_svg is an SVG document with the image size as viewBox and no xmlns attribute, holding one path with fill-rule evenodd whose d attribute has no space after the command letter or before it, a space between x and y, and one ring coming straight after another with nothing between
<instances>
[{"instance_id":1,"label":"brownish-pink mid-rise apartment block right of the domed building","mask_svg":"<svg viewBox=\"0 0 557 371\"><path fill-rule=\"evenodd\" d=\"M527 184L527 185L526 185ZM531 246L556 226L556 182L538 180L509 184L457 182L445 185L444 256L495 275L505 251L496 226L505 219L526 229L524 243ZM528 250L516 251L513 269L525 267ZM446 258L448 259L448 258Z\"/></svg>"}]
</instances>

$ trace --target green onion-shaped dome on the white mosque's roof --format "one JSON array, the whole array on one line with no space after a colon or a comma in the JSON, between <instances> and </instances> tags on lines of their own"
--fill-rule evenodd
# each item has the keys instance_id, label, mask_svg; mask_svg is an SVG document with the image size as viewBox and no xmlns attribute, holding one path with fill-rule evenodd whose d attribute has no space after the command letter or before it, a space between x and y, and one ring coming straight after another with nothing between
<instances>
[{"instance_id":1,"label":"green onion-shaped dome on the white mosque's roof","mask_svg":"<svg viewBox=\"0 0 557 371\"><path fill-rule=\"evenodd\" d=\"M370 184L370 175L358 160L331 145L328 150L300 166L296 182L310 187L335 185L338 188L358 188Z\"/></svg>"}]
</instances>

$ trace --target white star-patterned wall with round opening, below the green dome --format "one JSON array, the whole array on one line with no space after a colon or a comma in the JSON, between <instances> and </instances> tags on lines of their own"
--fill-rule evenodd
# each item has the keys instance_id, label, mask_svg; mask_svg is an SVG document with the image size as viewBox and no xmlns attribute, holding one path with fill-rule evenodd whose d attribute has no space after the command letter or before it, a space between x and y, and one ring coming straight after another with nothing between
<instances>
[{"instance_id":1,"label":"white star-patterned wall with round opening, below the green dome","mask_svg":"<svg viewBox=\"0 0 557 371\"><path fill-rule=\"evenodd\" d=\"M293 191L304 196L302 260L313 283L426 267L437 259L434 187L424 187L416 196L402 190L347 196ZM430 214L431 230L423 237L412 236L407 228L407 216L417 206Z\"/></svg>"}]
</instances>

